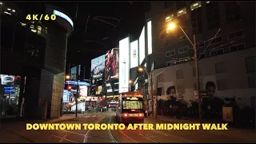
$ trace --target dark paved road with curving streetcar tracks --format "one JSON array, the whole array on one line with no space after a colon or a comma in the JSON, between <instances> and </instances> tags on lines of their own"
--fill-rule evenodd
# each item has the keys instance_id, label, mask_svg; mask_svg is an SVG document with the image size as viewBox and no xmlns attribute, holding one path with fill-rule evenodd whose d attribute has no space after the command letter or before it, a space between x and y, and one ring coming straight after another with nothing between
<instances>
[{"instance_id":1,"label":"dark paved road with curving streetcar tracks","mask_svg":"<svg viewBox=\"0 0 256 144\"><path fill-rule=\"evenodd\" d=\"M145 123L166 122L146 118ZM115 123L114 113L85 114L78 120L65 123ZM19 135L14 142L256 142L229 131L206 130L25 130L23 124L8 126ZM12 133L13 132L10 132ZM11 136L10 136L11 138ZM0 134L0 142L2 142ZM6 139L6 138L5 138ZM7 141L6 141L7 142Z\"/></svg>"}]
</instances>

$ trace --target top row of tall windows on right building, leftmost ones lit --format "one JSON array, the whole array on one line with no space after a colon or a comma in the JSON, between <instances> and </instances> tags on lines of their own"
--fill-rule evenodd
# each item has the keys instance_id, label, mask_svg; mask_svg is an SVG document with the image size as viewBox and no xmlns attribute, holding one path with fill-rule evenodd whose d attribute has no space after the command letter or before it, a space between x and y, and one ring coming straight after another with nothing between
<instances>
[{"instance_id":1,"label":"top row of tall windows on right building, leftmost ones lit","mask_svg":"<svg viewBox=\"0 0 256 144\"><path fill-rule=\"evenodd\" d=\"M185 5L186 6L186 5ZM207 7L207 26L208 30L214 30L220 27L220 8L218 2L206 2ZM191 10L191 23L193 34L202 34L202 4L201 2L194 2L190 5ZM186 7L178 9L177 18L182 22L185 22L188 18ZM170 22L174 19L174 14L168 14L166 16L166 22ZM242 17L240 15L240 6L238 2L226 2L226 22L228 24L232 22L241 21ZM170 30L166 30L169 33Z\"/></svg>"}]
</instances>

